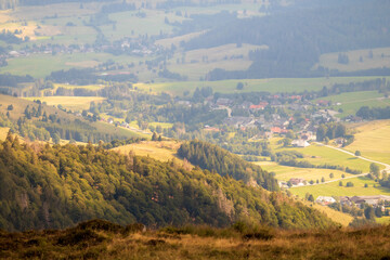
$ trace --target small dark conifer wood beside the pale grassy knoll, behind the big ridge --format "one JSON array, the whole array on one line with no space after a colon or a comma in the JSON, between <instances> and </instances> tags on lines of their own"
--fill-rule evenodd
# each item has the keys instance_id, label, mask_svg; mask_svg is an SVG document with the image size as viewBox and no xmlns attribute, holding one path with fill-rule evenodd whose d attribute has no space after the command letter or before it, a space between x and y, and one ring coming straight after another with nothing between
<instances>
[{"instance_id":1,"label":"small dark conifer wood beside the pale grassy knoll, behind the big ridge","mask_svg":"<svg viewBox=\"0 0 390 260\"><path fill-rule=\"evenodd\" d=\"M270 173L217 145L194 140L182 144L178 150L178 155L203 169L221 176L231 176L248 184L255 180L256 185L261 185L269 191L278 190L276 180Z\"/></svg>"}]
</instances>

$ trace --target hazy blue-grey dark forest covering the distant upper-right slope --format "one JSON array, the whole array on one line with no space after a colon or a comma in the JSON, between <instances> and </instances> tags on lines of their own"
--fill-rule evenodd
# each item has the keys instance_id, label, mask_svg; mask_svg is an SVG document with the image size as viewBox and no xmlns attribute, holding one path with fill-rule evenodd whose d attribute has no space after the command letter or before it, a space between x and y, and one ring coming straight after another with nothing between
<instances>
[{"instance_id":1,"label":"hazy blue-grey dark forest covering the distant upper-right slope","mask_svg":"<svg viewBox=\"0 0 390 260\"><path fill-rule=\"evenodd\" d=\"M268 46L249 52L247 70L217 68L209 80L231 78L285 78L352 76L321 67L311 70L320 55L328 52L390 46L389 1L296 1L280 12L262 17L231 18L184 43L186 50L243 43ZM301 2L301 4L299 4ZM302 3L303 2L303 3ZM308 2L315 2L304 4ZM194 22L194 24L196 21ZM188 25L183 24L183 27ZM355 76L386 76L389 68L355 72Z\"/></svg>"}]
</instances>

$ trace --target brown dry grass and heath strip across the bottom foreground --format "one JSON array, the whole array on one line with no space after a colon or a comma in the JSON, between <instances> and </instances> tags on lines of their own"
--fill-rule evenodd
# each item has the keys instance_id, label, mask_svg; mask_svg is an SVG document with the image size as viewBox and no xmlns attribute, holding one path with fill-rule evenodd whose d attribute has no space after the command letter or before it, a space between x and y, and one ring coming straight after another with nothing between
<instances>
[{"instance_id":1,"label":"brown dry grass and heath strip across the bottom foreground","mask_svg":"<svg viewBox=\"0 0 390 260\"><path fill-rule=\"evenodd\" d=\"M0 231L0 258L390 259L389 225L326 231L252 231L239 224L143 229L93 220L65 231Z\"/></svg>"}]
</instances>

